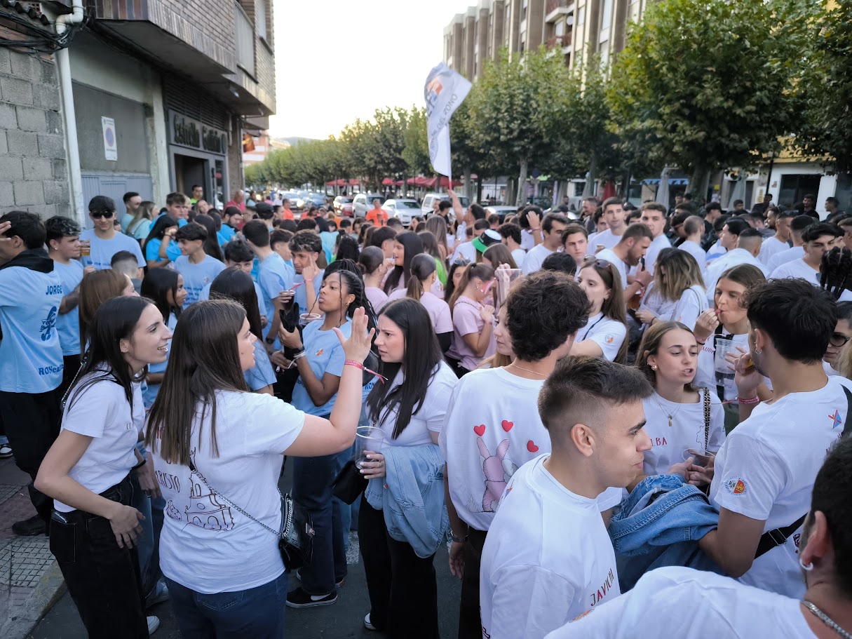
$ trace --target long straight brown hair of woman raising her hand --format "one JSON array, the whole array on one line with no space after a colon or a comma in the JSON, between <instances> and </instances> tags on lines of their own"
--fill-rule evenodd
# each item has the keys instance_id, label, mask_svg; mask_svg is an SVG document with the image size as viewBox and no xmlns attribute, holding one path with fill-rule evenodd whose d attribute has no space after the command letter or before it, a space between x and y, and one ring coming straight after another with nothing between
<instances>
[{"instance_id":1,"label":"long straight brown hair of woman raising her hand","mask_svg":"<svg viewBox=\"0 0 852 639\"><path fill-rule=\"evenodd\" d=\"M162 446L158 452L164 461L189 465L193 419L199 402L200 423L210 411L210 445L218 457L216 391L249 392L237 347L244 321L245 308L231 300L195 302L181 316L171 339L169 367L151 406L145 435L152 450L159 436ZM199 442L201 435L199 429Z\"/></svg>"}]
</instances>

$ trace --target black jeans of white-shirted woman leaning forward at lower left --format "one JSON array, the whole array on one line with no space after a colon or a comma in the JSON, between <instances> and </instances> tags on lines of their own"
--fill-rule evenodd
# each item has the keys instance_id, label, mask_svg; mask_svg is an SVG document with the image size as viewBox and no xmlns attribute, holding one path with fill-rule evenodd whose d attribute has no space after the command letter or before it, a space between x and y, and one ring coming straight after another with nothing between
<instances>
[{"instance_id":1,"label":"black jeans of white-shirted woman leaning forward at lower left","mask_svg":"<svg viewBox=\"0 0 852 639\"><path fill-rule=\"evenodd\" d=\"M101 497L129 505L130 478ZM50 520L50 552L59 562L89 639L148 636L136 549L118 547L107 519L83 510L55 511Z\"/></svg>"}]
</instances>

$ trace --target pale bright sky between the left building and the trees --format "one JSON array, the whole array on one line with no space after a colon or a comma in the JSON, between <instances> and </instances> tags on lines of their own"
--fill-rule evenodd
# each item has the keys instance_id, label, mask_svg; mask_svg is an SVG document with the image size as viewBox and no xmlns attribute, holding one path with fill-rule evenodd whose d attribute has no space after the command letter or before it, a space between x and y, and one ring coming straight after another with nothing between
<instances>
[{"instance_id":1,"label":"pale bright sky between the left building and the trees","mask_svg":"<svg viewBox=\"0 0 852 639\"><path fill-rule=\"evenodd\" d=\"M273 137L326 138L380 107L423 104L444 27L473 0L274 0Z\"/></svg>"}]
</instances>

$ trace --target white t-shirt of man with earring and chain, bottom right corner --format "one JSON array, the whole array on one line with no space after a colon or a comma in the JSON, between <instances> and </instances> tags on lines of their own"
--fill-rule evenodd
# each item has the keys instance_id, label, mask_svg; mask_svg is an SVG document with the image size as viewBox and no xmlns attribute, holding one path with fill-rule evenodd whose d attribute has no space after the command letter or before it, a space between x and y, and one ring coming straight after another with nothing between
<instances>
[{"instance_id":1,"label":"white t-shirt of man with earring and chain, bottom right corner","mask_svg":"<svg viewBox=\"0 0 852 639\"><path fill-rule=\"evenodd\" d=\"M816 639L805 614L796 599L716 573L665 567L544 639Z\"/></svg>"}]
</instances>

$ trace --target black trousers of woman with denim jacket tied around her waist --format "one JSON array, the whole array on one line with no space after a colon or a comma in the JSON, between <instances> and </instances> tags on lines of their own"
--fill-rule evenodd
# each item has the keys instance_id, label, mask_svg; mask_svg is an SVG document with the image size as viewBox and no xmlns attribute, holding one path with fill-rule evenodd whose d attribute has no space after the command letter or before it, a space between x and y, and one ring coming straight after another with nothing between
<instances>
[{"instance_id":1,"label":"black trousers of woman with denim jacket tied around her waist","mask_svg":"<svg viewBox=\"0 0 852 639\"><path fill-rule=\"evenodd\" d=\"M411 544L391 538L383 512L366 498L361 498L358 540L370 593L371 624L391 637L437 639L435 555L421 559Z\"/></svg>"}]
</instances>

